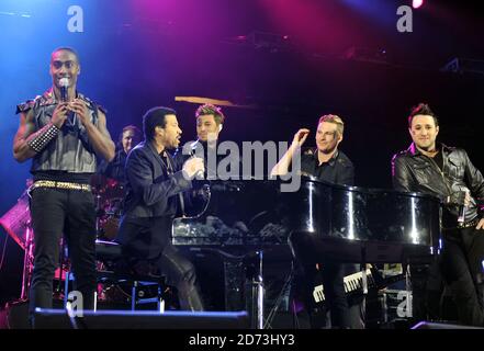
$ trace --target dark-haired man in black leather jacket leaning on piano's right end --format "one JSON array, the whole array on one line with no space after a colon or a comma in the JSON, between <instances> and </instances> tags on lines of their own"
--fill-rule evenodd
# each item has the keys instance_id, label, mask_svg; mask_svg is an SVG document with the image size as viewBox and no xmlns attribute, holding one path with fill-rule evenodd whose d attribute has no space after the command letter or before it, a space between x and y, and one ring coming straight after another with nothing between
<instances>
[{"instance_id":1,"label":"dark-haired man in black leather jacket leaning on piano's right end","mask_svg":"<svg viewBox=\"0 0 484 351\"><path fill-rule=\"evenodd\" d=\"M465 150L436 143L439 123L427 104L413 109L408 132L410 147L393 157L393 185L441 200L441 274L457 305L459 322L483 326L483 176Z\"/></svg>"}]
</instances>

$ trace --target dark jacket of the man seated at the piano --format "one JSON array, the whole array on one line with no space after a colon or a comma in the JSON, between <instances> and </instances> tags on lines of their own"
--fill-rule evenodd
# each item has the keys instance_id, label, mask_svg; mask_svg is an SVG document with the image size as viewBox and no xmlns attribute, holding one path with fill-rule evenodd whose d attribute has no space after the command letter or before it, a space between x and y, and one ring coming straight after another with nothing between
<instances>
[{"instance_id":1,"label":"dark jacket of the man seated at the piano","mask_svg":"<svg viewBox=\"0 0 484 351\"><path fill-rule=\"evenodd\" d=\"M167 152L168 155L168 152ZM126 202L124 215L130 218L175 216L181 192L191 181L168 155L172 170L149 141L131 150L126 159Z\"/></svg>"}]
</instances>

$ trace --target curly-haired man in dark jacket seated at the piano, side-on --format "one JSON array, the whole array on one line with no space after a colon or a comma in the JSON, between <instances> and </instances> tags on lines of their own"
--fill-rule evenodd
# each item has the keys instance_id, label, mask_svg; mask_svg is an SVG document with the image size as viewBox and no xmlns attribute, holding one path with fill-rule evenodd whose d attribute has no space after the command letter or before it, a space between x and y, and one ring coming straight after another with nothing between
<instances>
[{"instance_id":1,"label":"curly-haired man in dark jacket seated at the piano, side-on","mask_svg":"<svg viewBox=\"0 0 484 351\"><path fill-rule=\"evenodd\" d=\"M176 286L182 309L203 310L195 269L171 244L171 226L181 194L203 173L203 159L178 167L168 152L180 144L177 114L153 107L143 116L145 140L126 159L126 203L116 241L138 273L162 273Z\"/></svg>"}]
</instances>

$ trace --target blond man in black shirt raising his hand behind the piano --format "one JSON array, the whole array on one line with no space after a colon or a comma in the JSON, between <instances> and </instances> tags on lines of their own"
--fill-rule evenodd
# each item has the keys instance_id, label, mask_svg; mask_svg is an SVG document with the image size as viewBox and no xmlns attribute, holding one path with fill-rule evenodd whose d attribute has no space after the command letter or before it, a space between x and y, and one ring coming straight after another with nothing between
<instances>
[{"instance_id":1,"label":"blond man in black shirt raising his hand behind the piano","mask_svg":"<svg viewBox=\"0 0 484 351\"><path fill-rule=\"evenodd\" d=\"M342 140L344 122L337 115L324 115L319 118L316 132L316 146L301 156L301 174L316 177L317 179L352 185L354 182L354 169L349 158L340 150L338 145ZM283 176L289 171L293 157L300 152L306 141L309 129L302 128L294 135L294 139L271 171L271 176ZM294 172L294 170L293 170ZM325 286L326 303L331 313L331 326L338 328L350 328L351 321L348 310L348 302L344 287L344 267L341 263L325 261L317 267L304 267L304 283L306 284L306 308L312 310L314 276L320 270ZM309 279L307 279L309 278ZM314 326L313 326L314 327Z\"/></svg>"}]
</instances>

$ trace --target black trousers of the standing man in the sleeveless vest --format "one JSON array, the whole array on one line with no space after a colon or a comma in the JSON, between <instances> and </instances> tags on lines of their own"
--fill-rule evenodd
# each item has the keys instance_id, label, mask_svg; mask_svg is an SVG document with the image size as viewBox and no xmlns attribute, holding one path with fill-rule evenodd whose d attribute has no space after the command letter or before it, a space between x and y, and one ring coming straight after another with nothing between
<instances>
[{"instance_id":1,"label":"black trousers of the standing man in the sleeveless vest","mask_svg":"<svg viewBox=\"0 0 484 351\"><path fill-rule=\"evenodd\" d=\"M95 210L92 193L37 188L31 196L35 245L30 292L31 320L35 307L52 308L53 279L63 234L72 264L74 288L82 294L82 307L92 309L95 291Z\"/></svg>"}]
</instances>

